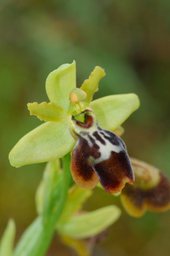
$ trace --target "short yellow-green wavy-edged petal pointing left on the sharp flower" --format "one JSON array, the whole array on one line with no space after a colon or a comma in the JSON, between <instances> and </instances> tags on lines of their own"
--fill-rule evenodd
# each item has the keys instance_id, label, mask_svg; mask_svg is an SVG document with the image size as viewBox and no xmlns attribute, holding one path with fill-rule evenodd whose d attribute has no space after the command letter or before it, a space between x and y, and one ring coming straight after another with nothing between
<instances>
[{"instance_id":1,"label":"short yellow-green wavy-edged petal pointing left on the sharp flower","mask_svg":"<svg viewBox=\"0 0 170 256\"><path fill-rule=\"evenodd\" d=\"M36 115L41 121L60 123L65 119L65 111L62 107L52 102L28 103L30 115Z\"/></svg>"}]
</instances>

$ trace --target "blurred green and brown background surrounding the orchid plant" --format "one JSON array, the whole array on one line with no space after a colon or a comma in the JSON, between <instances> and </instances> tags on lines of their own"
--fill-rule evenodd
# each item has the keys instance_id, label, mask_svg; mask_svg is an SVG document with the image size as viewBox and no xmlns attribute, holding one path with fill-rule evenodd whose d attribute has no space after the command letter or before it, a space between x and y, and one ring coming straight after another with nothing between
<instances>
[{"instance_id":1,"label":"blurred green and brown background surrounding the orchid plant","mask_svg":"<svg viewBox=\"0 0 170 256\"><path fill-rule=\"evenodd\" d=\"M17 241L36 217L34 196L45 164L15 169L8 153L41 123L26 104L48 101L46 77L63 63L77 62L78 86L95 66L105 69L95 98L139 95L141 107L123 124L123 140L130 156L170 178L169 7L169 0L1 0L1 234L12 217ZM95 189L85 209L114 203L122 208L119 198ZM123 211L94 255L169 256L169 217L148 212L133 219ZM47 255L74 253L56 235Z\"/></svg>"}]
</instances>

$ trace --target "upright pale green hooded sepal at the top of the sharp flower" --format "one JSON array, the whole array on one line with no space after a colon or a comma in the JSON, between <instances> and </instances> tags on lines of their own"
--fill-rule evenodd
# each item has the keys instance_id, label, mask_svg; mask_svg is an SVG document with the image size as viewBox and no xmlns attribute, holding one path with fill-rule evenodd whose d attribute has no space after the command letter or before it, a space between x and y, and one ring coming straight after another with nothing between
<instances>
[{"instance_id":1,"label":"upright pale green hooded sepal at the top of the sharp flower","mask_svg":"<svg viewBox=\"0 0 170 256\"><path fill-rule=\"evenodd\" d=\"M51 72L46 80L46 92L51 102L66 111L69 107L70 92L76 87L75 61L63 64Z\"/></svg>"}]
</instances>

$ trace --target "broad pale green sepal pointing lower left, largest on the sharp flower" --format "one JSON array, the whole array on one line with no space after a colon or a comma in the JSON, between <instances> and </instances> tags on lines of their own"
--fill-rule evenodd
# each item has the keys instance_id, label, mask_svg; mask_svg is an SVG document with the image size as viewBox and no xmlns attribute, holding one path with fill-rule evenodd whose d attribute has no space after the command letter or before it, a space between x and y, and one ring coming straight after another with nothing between
<instances>
[{"instance_id":1,"label":"broad pale green sepal pointing lower left, largest on the sharp flower","mask_svg":"<svg viewBox=\"0 0 170 256\"><path fill-rule=\"evenodd\" d=\"M15 167L48 162L67 154L74 143L65 122L47 122L21 138L11 150L9 159Z\"/></svg>"}]
</instances>

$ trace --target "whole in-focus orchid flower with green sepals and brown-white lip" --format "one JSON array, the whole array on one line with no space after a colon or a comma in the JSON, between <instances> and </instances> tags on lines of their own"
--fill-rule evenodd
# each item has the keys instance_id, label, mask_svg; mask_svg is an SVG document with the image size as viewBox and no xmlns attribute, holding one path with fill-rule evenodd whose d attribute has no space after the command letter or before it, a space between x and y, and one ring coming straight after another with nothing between
<instances>
[{"instance_id":1,"label":"whole in-focus orchid flower with green sepals and brown-white lip","mask_svg":"<svg viewBox=\"0 0 170 256\"><path fill-rule=\"evenodd\" d=\"M139 99L130 93L91 101L103 76L104 69L96 67L78 89L75 61L50 73L46 80L50 102L28 103L30 114L46 123L15 145L10 153L11 164L20 167L48 162L73 150L72 175L81 188L94 188L100 181L108 193L117 193L126 182L133 184L125 144L112 131L139 107Z\"/></svg>"}]
</instances>

